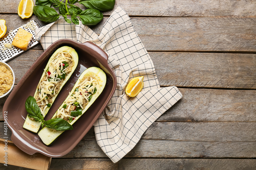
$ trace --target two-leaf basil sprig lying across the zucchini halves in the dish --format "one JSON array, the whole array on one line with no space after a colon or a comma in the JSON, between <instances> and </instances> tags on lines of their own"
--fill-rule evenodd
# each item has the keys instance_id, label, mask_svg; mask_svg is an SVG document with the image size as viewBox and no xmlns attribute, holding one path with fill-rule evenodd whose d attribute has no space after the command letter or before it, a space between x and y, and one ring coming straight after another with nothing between
<instances>
[{"instance_id":1,"label":"two-leaf basil sprig lying across the zucchini halves in the dish","mask_svg":"<svg viewBox=\"0 0 256 170\"><path fill-rule=\"evenodd\" d=\"M33 117L36 122L42 122L42 127L45 125L46 127L55 130L73 130L72 125L61 118L44 121L44 116L41 114L40 108L36 103L36 99L32 96L27 98L25 108L28 112L28 117Z\"/></svg>"}]
</instances>

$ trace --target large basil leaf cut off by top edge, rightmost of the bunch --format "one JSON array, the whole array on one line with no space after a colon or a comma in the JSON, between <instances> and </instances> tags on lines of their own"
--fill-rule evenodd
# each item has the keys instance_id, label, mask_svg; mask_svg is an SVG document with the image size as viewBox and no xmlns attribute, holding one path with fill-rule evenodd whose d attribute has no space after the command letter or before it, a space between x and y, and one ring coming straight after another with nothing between
<instances>
[{"instance_id":1,"label":"large basil leaf cut off by top edge, rightmost of the bunch","mask_svg":"<svg viewBox=\"0 0 256 170\"><path fill-rule=\"evenodd\" d=\"M114 8L115 0L81 0L80 4L83 4L88 9L97 9L99 11L107 11Z\"/></svg>"}]
</instances>

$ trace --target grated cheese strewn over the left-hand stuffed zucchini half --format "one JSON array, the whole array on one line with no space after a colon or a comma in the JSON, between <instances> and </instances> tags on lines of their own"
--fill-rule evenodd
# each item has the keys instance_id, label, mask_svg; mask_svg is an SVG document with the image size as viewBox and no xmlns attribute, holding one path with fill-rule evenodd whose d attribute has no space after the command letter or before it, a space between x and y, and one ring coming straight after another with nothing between
<instances>
[{"instance_id":1,"label":"grated cheese strewn over the left-hand stuffed zucchini half","mask_svg":"<svg viewBox=\"0 0 256 170\"><path fill-rule=\"evenodd\" d=\"M65 57L64 54L69 54L71 58ZM38 93L39 93L40 100L38 100L37 103L41 102L41 104L39 104L38 106L45 105L43 110L40 109L43 115L45 115L44 112L45 112L45 109L47 108L46 104L48 104L48 101L46 99L47 94L50 94L50 95L57 94L56 88L59 86L58 82L61 80L60 78L58 78L58 75L61 76L63 73L67 74L68 72L72 71L72 70L66 71L67 67L63 69L63 66L62 66L62 62L64 61L69 62L69 60L71 62L73 61L72 55L69 52L66 53L63 51L59 51L59 53L55 57L50 59L50 62L48 64L50 75L45 70L45 75L47 79L39 83ZM45 101L45 104L43 101Z\"/></svg>"}]
</instances>

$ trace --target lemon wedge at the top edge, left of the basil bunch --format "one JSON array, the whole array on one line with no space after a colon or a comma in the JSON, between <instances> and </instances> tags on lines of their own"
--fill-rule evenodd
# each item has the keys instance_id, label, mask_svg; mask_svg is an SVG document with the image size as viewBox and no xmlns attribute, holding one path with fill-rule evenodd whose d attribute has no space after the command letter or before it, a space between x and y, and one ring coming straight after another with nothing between
<instances>
[{"instance_id":1,"label":"lemon wedge at the top edge, left of the basil bunch","mask_svg":"<svg viewBox=\"0 0 256 170\"><path fill-rule=\"evenodd\" d=\"M18 15L24 19L33 14L34 2L32 0L20 0L18 6Z\"/></svg>"}]
</instances>

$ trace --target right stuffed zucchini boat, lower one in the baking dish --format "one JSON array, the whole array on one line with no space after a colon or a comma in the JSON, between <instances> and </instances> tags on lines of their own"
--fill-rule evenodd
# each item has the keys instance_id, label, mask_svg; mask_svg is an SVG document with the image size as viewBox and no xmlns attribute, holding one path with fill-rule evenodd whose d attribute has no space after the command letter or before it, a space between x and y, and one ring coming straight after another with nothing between
<instances>
[{"instance_id":1,"label":"right stuffed zucchini boat, lower one in the baking dish","mask_svg":"<svg viewBox=\"0 0 256 170\"><path fill-rule=\"evenodd\" d=\"M100 68L90 67L86 69L52 119L62 118L72 125L97 99L105 84L106 74ZM63 132L45 126L38 135L46 145L49 145Z\"/></svg>"}]
</instances>

